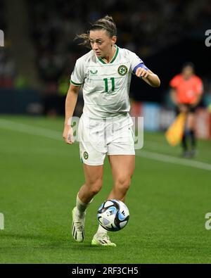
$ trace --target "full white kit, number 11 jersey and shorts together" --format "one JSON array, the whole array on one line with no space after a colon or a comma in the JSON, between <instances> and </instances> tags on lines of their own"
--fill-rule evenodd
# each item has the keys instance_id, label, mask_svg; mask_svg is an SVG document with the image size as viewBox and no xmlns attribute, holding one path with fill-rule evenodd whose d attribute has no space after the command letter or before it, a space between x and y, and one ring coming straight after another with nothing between
<instances>
[{"instance_id":1,"label":"full white kit, number 11 jersey and shorts together","mask_svg":"<svg viewBox=\"0 0 211 278\"><path fill-rule=\"evenodd\" d=\"M135 53L115 46L110 63L93 50L75 63L70 82L83 87L84 109L79 121L80 157L87 165L103 165L108 155L134 155L129 86L137 65Z\"/></svg>"}]
</instances>

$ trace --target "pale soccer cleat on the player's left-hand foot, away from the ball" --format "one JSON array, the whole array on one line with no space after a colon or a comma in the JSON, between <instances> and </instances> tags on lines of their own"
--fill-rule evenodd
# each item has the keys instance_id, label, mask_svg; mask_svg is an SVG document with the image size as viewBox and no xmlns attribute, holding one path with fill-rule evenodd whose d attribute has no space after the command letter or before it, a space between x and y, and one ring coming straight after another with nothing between
<instances>
[{"instance_id":1,"label":"pale soccer cleat on the player's left-hand foot, away from the ball","mask_svg":"<svg viewBox=\"0 0 211 278\"><path fill-rule=\"evenodd\" d=\"M77 242L84 241L85 213L83 218L76 215L77 207L72 210L72 236Z\"/></svg>"}]
</instances>

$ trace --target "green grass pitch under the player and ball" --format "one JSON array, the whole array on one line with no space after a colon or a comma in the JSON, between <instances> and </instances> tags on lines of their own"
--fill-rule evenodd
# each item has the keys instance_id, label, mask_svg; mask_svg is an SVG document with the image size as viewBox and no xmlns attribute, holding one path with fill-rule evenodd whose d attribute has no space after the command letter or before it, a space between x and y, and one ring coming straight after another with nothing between
<instances>
[{"instance_id":1,"label":"green grass pitch under the player and ball","mask_svg":"<svg viewBox=\"0 0 211 278\"><path fill-rule=\"evenodd\" d=\"M141 151L127 196L129 223L110 233L117 248L91 246L96 210L112 187L107 158L85 241L76 243L71 211L84 176L78 144L65 144L62 131L59 118L0 117L0 263L211 263L205 229L211 170L144 158ZM210 147L199 141L194 160L211 165ZM142 151L178 158L180 149L167 146L162 133L145 132Z\"/></svg>"}]
</instances>

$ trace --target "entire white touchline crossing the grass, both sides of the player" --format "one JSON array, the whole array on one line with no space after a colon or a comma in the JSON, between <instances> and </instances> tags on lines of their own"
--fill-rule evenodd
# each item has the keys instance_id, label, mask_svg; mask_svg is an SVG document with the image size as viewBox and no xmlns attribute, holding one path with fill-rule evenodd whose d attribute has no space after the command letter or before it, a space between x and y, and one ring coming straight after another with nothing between
<instances>
[{"instance_id":1,"label":"entire white touchline crossing the grass, both sides of the player","mask_svg":"<svg viewBox=\"0 0 211 278\"><path fill-rule=\"evenodd\" d=\"M9 129L15 132L23 132L27 134L46 137L49 139L56 139L62 141L62 135L60 132L56 132L52 129L46 129L44 127L35 127L31 125L22 124L20 122L12 122L11 120L0 119L0 127ZM151 151L136 151L136 156L144 157L148 159L158 160L165 163L173 163L177 165L185 165L193 168L209 170L211 171L211 164L203 163L197 160L188 160L185 158L175 158L174 156L167 156L161 153L154 153Z\"/></svg>"}]
</instances>

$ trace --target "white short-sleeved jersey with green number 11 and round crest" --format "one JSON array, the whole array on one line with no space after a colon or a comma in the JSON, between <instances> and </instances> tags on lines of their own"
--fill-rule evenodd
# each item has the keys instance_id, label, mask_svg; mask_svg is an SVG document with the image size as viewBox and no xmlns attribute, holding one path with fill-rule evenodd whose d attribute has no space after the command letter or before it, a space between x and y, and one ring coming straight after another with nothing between
<instances>
[{"instance_id":1,"label":"white short-sleeved jersey with green number 11 and round crest","mask_svg":"<svg viewBox=\"0 0 211 278\"><path fill-rule=\"evenodd\" d=\"M115 118L129 112L132 71L143 61L132 51L118 46L115 48L110 63L98 58L93 50L75 63L70 82L82 85L83 114L88 118Z\"/></svg>"}]
</instances>

